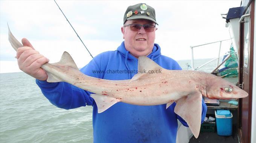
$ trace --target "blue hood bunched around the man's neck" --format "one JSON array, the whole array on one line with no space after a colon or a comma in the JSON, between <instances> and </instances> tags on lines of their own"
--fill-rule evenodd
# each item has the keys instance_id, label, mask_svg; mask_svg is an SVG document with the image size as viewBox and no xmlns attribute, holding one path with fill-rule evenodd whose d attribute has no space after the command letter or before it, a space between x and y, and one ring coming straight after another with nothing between
<instances>
[{"instance_id":1,"label":"blue hood bunched around the man's neck","mask_svg":"<svg viewBox=\"0 0 256 143\"><path fill-rule=\"evenodd\" d=\"M133 55L131 55L129 51L127 51L125 49L125 42L124 41L117 48L117 51L119 51L121 53L121 55L123 57L125 57L125 59L128 60L128 61L136 61L136 60L138 60ZM154 47L152 49L151 54L149 54L147 57L151 58L151 60L155 60L155 59L157 59L160 56L161 56L161 48L160 48L160 46L158 44L155 43Z\"/></svg>"}]
</instances>

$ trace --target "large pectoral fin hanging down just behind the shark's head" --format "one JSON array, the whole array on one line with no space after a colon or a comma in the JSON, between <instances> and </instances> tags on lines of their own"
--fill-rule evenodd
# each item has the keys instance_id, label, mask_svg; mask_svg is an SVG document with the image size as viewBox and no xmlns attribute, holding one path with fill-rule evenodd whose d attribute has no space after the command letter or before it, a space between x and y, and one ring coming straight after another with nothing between
<instances>
[{"instance_id":1,"label":"large pectoral fin hanging down just behind the shark's head","mask_svg":"<svg viewBox=\"0 0 256 143\"><path fill-rule=\"evenodd\" d=\"M201 93L187 95L177 100L176 103L174 112L187 122L190 130L197 138L200 132L202 116Z\"/></svg>"}]
</instances>

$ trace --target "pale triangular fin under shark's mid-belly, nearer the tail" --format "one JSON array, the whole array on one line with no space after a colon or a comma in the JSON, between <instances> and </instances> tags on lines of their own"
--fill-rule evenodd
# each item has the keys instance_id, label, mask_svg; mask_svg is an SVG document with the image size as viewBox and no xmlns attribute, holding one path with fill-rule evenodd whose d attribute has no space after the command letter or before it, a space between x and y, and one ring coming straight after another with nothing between
<instances>
[{"instance_id":1,"label":"pale triangular fin under shark's mid-belly, nearer the tail","mask_svg":"<svg viewBox=\"0 0 256 143\"><path fill-rule=\"evenodd\" d=\"M91 97L97 104L98 113L102 113L112 105L116 104L117 102L120 102L118 98L108 97L105 95L91 94Z\"/></svg>"}]
</instances>

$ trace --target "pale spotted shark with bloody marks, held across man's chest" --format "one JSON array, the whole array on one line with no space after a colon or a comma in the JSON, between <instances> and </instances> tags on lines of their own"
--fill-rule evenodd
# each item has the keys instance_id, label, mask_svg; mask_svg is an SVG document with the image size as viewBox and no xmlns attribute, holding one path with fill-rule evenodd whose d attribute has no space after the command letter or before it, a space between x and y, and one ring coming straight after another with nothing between
<instances>
[{"instance_id":1,"label":"pale spotted shark with bloody marks, held across man's chest","mask_svg":"<svg viewBox=\"0 0 256 143\"><path fill-rule=\"evenodd\" d=\"M23 47L10 29L8 37L16 51ZM68 52L62 54L58 63L45 63L41 68L48 75L47 82L68 82L93 92L91 97L96 102L98 113L118 102L141 106L166 104L166 109L175 102L174 112L187 122L196 138L201 127L202 97L231 99L248 96L238 86L213 74L194 70L167 70L145 56L138 58L138 73L128 80L87 76L79 71Z\"/></svg>"}]
</instances>

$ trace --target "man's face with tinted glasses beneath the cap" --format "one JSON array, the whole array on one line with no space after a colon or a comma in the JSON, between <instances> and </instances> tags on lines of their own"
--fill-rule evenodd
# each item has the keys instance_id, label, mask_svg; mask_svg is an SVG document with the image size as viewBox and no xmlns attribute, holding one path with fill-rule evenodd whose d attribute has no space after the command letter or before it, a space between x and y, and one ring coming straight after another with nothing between
<instances>
[{"instance_id":1,"label":"man's face with tinted glasses beneath the cap","mask_svg":"<svg viewBox=\"0 0 256 143\"><path fill-rule=\"evenodd\" d=\"M154 22L146 19L134 19L128 20L124 25L128 24L151 24L155 25ZM152 32L146 32L142 27L139 31L131 31L130 26L122 27L123 39L125 39L125 48L134 57L147 56L152 52L155 41L155 30Z\"/></svg>"}]
</instances>

